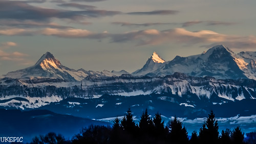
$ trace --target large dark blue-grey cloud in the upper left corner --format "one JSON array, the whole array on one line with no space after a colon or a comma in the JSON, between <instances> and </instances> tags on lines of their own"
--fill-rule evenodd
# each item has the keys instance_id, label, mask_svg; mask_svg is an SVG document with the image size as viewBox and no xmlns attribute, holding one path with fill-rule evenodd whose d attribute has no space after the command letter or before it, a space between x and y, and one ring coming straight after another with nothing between
<instances>
[{"instance_id":1,"label":"large dark blue-grey cloud in the upper left corner","mask_svg":"<svg viewBox=\"0 0 256 144\"><path fill-rule=\"evenodd\" d=\"M88 17L101 17L122 14L120 11L84 10L70 11L35 7L22 1L0 1L0 19L39 20L50 18L81 20Z\"/></svg>"}]
</instances>

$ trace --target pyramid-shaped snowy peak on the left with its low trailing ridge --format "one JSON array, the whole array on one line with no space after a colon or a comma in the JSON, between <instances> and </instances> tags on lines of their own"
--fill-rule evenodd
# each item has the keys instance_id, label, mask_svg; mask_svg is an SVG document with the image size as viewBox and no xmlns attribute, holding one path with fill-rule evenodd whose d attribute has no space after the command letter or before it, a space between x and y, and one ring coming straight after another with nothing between
<instances>
[{"instance_id":1,"label":"pyramid-shaped snowy peak on the left with its low trailing ridge","mask_svg":"<svg viewBox=\"0 0 256 144\"><path fill-rule=\"evenodd\" d=\"M41 58L36 62L32 67L17 70L14 72L9 72L3 77L18 78L27 80L32 83L41 83L41 81L81 81L89 75L94 76L114 76L126 74L127 72L121 70L116 71L107 71L103 70L102 72L98 71L86 71L84 69L74 70L68 67L61 65L60 61L57 60L50 52L45 53Z\"/></svg>"}]
</instances>

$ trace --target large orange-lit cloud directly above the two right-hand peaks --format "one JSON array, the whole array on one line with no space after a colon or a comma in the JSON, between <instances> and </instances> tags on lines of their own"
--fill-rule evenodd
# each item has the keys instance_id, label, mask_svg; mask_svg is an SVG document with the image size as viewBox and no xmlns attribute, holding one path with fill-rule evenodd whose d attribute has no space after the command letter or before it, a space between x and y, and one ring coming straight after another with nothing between
<instances>
[{"instance_id":1,"label":"large orange-lit cloud directly above the two right-hand peaks","mask_svg":"<svg viewBox=\"0 0 256 144\"><path fill-rule=\"evenodd\" d=\"M210 30L188 31L183 28L158 31L155 29L132 31L111 35L113 43L136 42L141 45L160 45L163 43L194 44L224 44L232 48L254 49L256 47L255 36L225 35ZM206 45L203 45L206 47ZM209 47L209 45L207 45Z\"/></svg>"}]
</instances>

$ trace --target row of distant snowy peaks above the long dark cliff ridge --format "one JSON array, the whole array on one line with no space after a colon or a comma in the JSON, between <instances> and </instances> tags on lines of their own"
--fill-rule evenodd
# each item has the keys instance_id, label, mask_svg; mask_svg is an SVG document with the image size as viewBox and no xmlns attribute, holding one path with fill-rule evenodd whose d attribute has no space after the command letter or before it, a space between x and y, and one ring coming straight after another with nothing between
<instances>
[{"instance_id":1,"label":"row of distant snowy peaks above the long dark cliff ridge","mask_svg":"<svg viewBox=\"0 0 256 144\"><path fill-rule=\"evenodd\" d=\"M133 72L135 76L166 76L175 72L190 76L212 76L218 79L256 79L256 52L240 52L235 54L229 48L219 45L198 55L187 57L176 56L165 61L156 52L148 58L146 64ZM2 77L18 79L54 79L58 81L81 81L87 76L120 76L129 74L121 71L87 71L74 70L61 65L60 61L47 52L32 67L9 72Z\"/></svg>"}]
</instances>

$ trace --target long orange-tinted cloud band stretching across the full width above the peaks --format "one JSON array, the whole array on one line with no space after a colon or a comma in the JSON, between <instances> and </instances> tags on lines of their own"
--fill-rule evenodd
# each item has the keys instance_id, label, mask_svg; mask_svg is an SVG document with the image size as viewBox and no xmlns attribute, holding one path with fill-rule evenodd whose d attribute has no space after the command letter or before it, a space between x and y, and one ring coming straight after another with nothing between
<instances>
[{"instance_id":1,"label":"long orange-tinted cloud band stretching across the full width above the peaks","mask_svg":"<svg viewBox=\"0 0 256 144\"><path fill-rule=\"evenodd\" d=\"M85 29L58 29L44 28L41 30L27 29L0 29L0 35L48 35L63 38L89 38L102 40L110 38L111 43L130 43L141 45L162 45L164 43L179 43L185 45L201 44L209 47L209 44L224 44L234 49L251 49L256 47L255 36L226 35L210 30L188 31L184 28L176 28L159 31L147 29L140 31L130 31L125 33L92 32Z\"/></svg>"}]
</instances>

